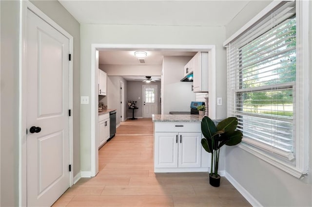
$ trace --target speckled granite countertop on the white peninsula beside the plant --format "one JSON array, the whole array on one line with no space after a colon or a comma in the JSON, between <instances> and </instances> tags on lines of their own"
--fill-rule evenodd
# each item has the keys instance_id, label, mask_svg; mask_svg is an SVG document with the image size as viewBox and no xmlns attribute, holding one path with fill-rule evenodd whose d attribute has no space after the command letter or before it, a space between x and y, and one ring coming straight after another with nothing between
<instances>
[{"instance_id":1,"label":"speckled granite countertop on the white peninsula beside the plant","mask_svg":"<svg viewBox=\"0 0 312 207\"><path fill-rule=\"evenodd\" d=\"M198 114L153 114L152 120L154 122L201 122L202 117Z\"/></svg>"}]
</instances>

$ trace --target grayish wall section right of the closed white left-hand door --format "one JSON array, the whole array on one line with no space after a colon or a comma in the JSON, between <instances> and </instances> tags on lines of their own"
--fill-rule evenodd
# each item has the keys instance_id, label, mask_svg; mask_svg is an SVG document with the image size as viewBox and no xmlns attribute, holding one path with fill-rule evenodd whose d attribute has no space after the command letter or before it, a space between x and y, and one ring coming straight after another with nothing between
<instances>
[{"instance_id":1,"label":"grayish wall section right of the closed white left-hand door","mask_svg":"<svg viewBox=\"0 0 312 207\"><path fill-rule=\"evenodd\" d=\"M53 19L74 38L73 54L73 132L74 176L80 172L80 24L58 0L31 0L44 14Z\"/></svg>"}]
</instances>

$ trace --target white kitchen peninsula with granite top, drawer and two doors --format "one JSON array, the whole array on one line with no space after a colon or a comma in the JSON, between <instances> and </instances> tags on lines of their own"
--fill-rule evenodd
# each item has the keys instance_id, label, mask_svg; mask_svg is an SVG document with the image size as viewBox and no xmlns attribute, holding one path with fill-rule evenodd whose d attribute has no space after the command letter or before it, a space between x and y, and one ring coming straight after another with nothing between
<instances>
[{"instance_id":1,"label":"white kitchen peninsula with granite top, drawer and two doors","mask_svg":"<svg viewBox=\"0 0 312 207\"><path fill-rule=\"evenodd\" d=\"M199 115L153 115L154 172L208 172Z\"/></svg>"}]
</instances>

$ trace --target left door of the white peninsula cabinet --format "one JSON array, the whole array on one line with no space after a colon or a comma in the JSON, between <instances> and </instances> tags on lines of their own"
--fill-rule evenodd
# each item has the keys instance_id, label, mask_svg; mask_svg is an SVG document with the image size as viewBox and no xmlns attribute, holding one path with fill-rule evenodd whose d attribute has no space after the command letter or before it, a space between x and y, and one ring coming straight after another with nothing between
<instances>
[{"instance_id":1,"label":"left door of the white peninsula cabinet","mask_svg":"<svg viewBox=\"0 0 312 207\"><path fill-rule=\"evenodd\" d=\"M176 168L178 133L155 133L155 167Z\"/></svg>"}]
</instances>

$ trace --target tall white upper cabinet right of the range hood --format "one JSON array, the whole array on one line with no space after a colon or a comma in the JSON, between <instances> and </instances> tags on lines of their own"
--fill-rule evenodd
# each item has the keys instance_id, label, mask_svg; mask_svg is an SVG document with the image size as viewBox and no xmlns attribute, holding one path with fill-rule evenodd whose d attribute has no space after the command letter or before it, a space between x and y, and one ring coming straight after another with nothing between
<instances>
[{"instance_id":1,"label":"tall white upper cabinet right of the range hood","mask_svg":"<svg viewBox=\"0 0 312 207\"><path fill-rule=\"evenodd\" d=\"M197 52L192 58L194 61L193 85L194 92L208 92L208 52Z\"/></svg>"}]
</instances>

